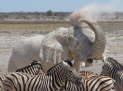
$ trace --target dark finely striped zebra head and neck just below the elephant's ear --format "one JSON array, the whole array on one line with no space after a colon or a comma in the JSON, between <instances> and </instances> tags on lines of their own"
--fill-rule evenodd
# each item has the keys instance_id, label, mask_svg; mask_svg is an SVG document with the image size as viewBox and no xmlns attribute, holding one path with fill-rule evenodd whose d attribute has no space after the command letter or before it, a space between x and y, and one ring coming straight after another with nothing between
<instances>
[{"instance_id":1,"label":"dark finely striped zebra head and neck just below the elephant's ear","mask_svg":"<svg viewBox=\"0 0 123 91\"><path fill-rule=\"evenodd\" d=\"M73 68L73 64L73 61L64 60L50 68L47 71L47 75L52 76L61 86L65 86L68 81L71 81L75 84L80 84L81 80L79 75L77 75L76 70Z\"/></svg>"}]
</instances>

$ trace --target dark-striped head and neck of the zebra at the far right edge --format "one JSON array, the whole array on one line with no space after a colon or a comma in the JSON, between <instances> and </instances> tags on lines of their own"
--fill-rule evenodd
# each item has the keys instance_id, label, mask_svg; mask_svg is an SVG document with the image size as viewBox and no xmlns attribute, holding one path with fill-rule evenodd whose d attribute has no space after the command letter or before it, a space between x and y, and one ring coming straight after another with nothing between
<instances>
[{"instance_id":1,"label":"dark-striped head and neck of the zebra at the far right edge","mask_svg":"<svg viewBox=\"0 0 123 91\"><path fill-rule=\"evenodd\" d=\"M111 76L112 72L115 74L117 71L123 70L123 66L117 62L114 58L108 57L104 60L104 65L102 66L102 75Z\"/></svg>"}]
</instances>

